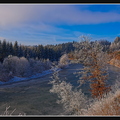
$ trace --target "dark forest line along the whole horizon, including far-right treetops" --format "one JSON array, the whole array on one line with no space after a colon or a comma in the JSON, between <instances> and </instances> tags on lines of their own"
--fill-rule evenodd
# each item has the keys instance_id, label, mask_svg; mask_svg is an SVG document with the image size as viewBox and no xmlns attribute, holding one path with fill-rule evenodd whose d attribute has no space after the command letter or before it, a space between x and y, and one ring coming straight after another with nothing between
<instances>
[{"instance_id":1,"label":"dark forest line along the whole horizon, including far-right treetops","mask_svg":"<svg viewBox=\"0 0 120 120\"><path fill-rule=\"evenodd\" d=\"M95 41L91 41L93 44ZM74 46L77 42L68 42L56 45L45 45L42 44L36 46L21 45L17 41L14 43L6 40L0 40L0 62L3 62L4 58L8 55L17 57L25 57L27 59L49 59L50 61L58 61L64 53L72 53L76 50ZM108 40L99 40L99 43L103 46L103 51L113 52L120 49L120 37L116 37L113 42ZM79 48L81 49L81 48ZM77 48L76 51L79 50ZM77 54L76 54L77 57Z\"/></svg>"}]
</instances>

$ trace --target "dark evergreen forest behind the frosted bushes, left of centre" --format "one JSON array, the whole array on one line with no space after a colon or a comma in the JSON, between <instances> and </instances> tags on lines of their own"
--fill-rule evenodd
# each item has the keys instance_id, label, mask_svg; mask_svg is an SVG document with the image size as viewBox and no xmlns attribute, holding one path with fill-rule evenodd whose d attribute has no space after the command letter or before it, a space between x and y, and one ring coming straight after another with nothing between
<instances>
[{"instance_id":1,"label":"dark evergreen forest behind the frosted bushes, left of centre","mask_svg":"<svg viewBox=\"0 0 120 120\"><path fill-rule=\"evenodd\" d=\"M73 43L74 42L46 46L42 44L25 46L18 44L17 41L12 43L6 40L0 40L0 62L3 62L4 58L9 55L25 57L27 59L49 59L50 61L58 61L64 53L74 51L75 47Z\"/></svg>"}]
</instances>

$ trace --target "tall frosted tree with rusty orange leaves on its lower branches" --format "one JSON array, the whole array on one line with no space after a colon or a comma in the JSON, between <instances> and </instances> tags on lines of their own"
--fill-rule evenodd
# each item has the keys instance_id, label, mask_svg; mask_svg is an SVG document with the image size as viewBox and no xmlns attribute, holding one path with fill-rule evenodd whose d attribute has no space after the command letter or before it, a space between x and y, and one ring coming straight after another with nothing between
<instances>
[{"instance_id":1,"label":"tall frosted tree with rusty orange leaves on its lower branches","mask_svg":"<svg viewBox=\"0 0 120 120\"><path fill-rule=\"evenodd\" d=\"M105 70L108 62L108 56L102 51L102 46L99 42L90 43L90 38L81 36L81 43L77 47L79 50L79 60L82 61L84 68L78 72L82 76L80 77L80 83L84 81L90 81L90 91L92 97L101 98L103 94L110 91L108 87L107 71Z\"/></svg>"}]
</instances>

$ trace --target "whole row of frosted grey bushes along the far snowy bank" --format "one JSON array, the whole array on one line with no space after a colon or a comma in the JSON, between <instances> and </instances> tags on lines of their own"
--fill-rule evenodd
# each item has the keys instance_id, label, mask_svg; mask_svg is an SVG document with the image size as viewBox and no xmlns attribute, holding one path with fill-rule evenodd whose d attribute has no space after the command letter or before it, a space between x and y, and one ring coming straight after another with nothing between
<instances>
[{"instance_id":1,"label":"whole row of frosted grey bushes along the far snowy bank","mask_svg":"<svg viewBox=\"0 0 120 120\"><path fill-rule=\"evenodd\" d=\"M8 56L3 61L3 68L11 76L28 77L31 74L41 73L51 68L49 60L34 60L25 57Z\"/></svg>"}]
</instances>

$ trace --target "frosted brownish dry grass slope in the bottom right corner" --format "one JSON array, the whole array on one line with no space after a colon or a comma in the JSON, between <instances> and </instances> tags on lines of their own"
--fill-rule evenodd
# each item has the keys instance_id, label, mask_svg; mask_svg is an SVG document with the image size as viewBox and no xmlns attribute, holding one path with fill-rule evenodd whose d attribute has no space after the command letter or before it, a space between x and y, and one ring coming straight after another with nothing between
<instances>
[{"instance_id":1,"label":"frosted brownish dry grass slope in the bottom right corner","mask_svg":"<svg viewBox=\"0 0 120 120\"><path fill-rule=\"evenodd\" d=\"M120 89L115 93L109 93L105 98L92 103L84 115L120 115Z\"/></svg>"}]
</instances>

